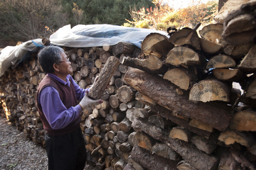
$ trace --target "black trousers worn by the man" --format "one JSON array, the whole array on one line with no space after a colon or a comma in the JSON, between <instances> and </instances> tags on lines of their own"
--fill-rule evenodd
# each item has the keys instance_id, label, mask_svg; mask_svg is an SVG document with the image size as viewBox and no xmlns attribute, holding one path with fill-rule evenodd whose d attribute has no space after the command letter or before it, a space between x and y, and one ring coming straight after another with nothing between
<instances>
[{"instance_id":1,"label":"black trousers worn by the man","mask_svg":"<svg viewBox=\"0 0 256 170\"><path fill-rule=\"evenodd\" d=\"M52 136L45 135L49 170L83 170L86 149L81 128L75 132Z\"/></svg>"}]
</instances>

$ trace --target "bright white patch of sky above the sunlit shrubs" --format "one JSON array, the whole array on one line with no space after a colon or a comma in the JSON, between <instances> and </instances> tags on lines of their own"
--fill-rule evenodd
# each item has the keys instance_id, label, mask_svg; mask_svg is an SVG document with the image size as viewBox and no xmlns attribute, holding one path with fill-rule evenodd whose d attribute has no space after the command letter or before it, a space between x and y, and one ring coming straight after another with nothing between
<instances>
[{"instance_id":1,"label":"bright white patch of sky above the sunlit shrubs","mask_svg":"<svg viewBox=\"0 0 256 170\"><path fill-rule=\"evenodd\" d=\"M208 1L209 0L163 0L164 3L168 3L169 6L173 7L175 10L179 8L186 8L192 3L207 3Z\"/></svg>"}]
</instances>

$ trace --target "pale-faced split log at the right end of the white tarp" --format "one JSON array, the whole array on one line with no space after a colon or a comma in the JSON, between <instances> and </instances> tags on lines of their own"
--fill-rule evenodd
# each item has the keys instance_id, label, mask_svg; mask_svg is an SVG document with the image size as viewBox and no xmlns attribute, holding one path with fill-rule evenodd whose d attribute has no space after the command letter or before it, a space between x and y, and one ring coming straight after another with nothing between
<instances>
[{"instance_id":1,"label":"pale-faced split log at the right end of the white tarp","mask_svg":"<svg viewBox=\"0 0 256 170\"><path fill-rule=\"evenodd\" d=\"M168 38L159 33L147 35L141 43L141 52L144 55L156 55L158 58L166 54L174 47Z\"/></svg>"}]
</instances>

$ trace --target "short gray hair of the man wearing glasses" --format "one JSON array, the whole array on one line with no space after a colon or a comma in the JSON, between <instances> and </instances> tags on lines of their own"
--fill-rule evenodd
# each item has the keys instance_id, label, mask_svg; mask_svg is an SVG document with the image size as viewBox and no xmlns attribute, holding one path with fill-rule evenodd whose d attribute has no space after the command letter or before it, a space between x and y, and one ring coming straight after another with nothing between
<instances>
[{"instance_id":1,"label":"short gray hair of the man wearing glasses","mask_svg":"<svg viewBox=\"0 0 256 170\"><path fill-rule=\"evenodd\" d=\"M53 73L53 64L59 64L62 59L61 52L64 52L64 50L57 46L46 46L39 51L37 56L43 71Z\"/></svg>"}]
</instances>

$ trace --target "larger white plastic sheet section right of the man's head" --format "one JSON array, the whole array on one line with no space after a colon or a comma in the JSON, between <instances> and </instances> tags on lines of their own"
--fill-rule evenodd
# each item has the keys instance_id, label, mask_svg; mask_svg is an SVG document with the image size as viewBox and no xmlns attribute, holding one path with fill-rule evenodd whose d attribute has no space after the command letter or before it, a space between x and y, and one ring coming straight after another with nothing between
<instances>
[{"instance_id":1,"label":"larger white plastic sheet section right of the man's head","mask_svg":"<svg viewBox=\"0 0 256 170\"><path fill-rule=\"evenodd\" d=\"M97 47L115 45L118 42L130 42L141 48L141 42L152 33L157 32L168 37L167 32L152 29L140 29L108 24L63 26L50 36L54 45L67 47Z\"/></svg>"}]
</instances>

